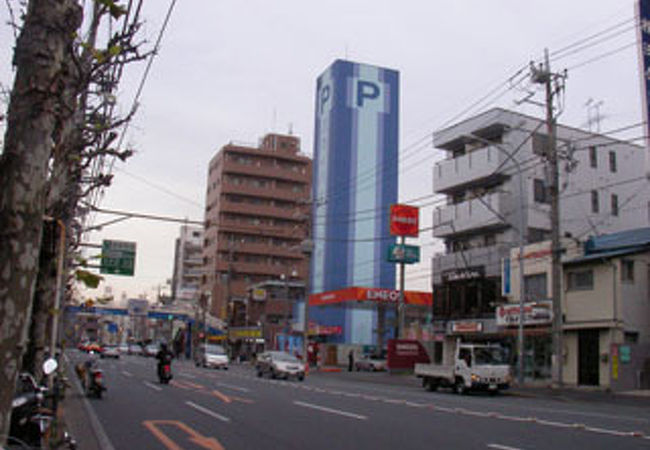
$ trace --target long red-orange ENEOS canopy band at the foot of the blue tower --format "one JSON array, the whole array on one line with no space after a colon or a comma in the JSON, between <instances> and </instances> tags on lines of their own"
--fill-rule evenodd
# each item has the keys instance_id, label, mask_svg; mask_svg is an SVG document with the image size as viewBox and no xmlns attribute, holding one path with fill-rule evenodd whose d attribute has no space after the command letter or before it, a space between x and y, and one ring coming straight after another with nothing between
<instances>
[{"instance_id":1,"label":"long red-orange ENEOS canopy band at the foot of the blue tower","mask_svg":"<svg viewBox=\"0 0 650 450\"><path fill-rule=\"evenodd\" d=\"M309 296L309 304L312 306L331 305L352 301L397 303L399 301L399 291L382 288L351 287ZM404 303L408 305L424 306L431 305L432 302L433 295L429 292L404 291Z\"/></svg>"}]
</instances>

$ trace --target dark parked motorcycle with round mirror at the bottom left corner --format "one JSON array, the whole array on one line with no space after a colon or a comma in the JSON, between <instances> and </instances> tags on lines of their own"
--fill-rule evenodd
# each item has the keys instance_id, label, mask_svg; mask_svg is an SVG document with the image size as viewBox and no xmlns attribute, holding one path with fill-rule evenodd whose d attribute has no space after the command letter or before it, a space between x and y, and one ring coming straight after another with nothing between
<instances>
[{"instance_id":1,"label":"dark parked motorcycle with round mirror at the bottom left corner","mask_svg":"<svg viewBox=\"0 0 650 450\"><path fill-rule=\"evenodd\" d=\"M43 373L52 374L58 367L50 358L43 364ZM34 377L26 372L18 375L14 399L11 402L11 424L9 429L9 448L49 448L50 425L54 411L45 407L48 389L39 385ZM75 448L74 440L65 433L64 444Z\"/></svg>"}]
</instances>

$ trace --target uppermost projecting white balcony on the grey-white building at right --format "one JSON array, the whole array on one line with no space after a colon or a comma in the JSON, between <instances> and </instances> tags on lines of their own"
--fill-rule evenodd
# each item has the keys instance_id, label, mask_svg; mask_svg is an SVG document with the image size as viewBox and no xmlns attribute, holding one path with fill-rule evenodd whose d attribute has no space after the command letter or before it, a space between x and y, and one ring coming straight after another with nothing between
<instances>
[{"instance_id":1,"label":"uppermost projecting white balcony on the grey-white building at right","mask_svg":"<svg viewBox=\"0 0 650 450\"><path fill-rule=\"evenodd\" d=\"M503 177L497 170L507 157L494 146L482 147L463 156L436 163L433 190L446 193L466 186L480 186Z\"/></svg>"}]
</instances>

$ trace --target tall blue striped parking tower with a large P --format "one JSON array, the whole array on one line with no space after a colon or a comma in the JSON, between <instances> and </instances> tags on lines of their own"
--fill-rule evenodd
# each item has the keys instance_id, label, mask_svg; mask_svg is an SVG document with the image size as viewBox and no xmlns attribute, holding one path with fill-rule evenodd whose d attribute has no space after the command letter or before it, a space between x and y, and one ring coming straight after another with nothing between
<instances>
[{"instance_id":1,"label":"tall blue striped parking tower with a large P","mask_svg":"<svg viewBox=\"0 0 650 450\"><path fill-rule=\"evenodd\" d=\"M399 72L337 60L318 78L314 136L313 238L310 292L353 286L395 288L386 261L390 205L397 202ZM377 344L392 308L328 305L310 308L323 336L338 344ZM392 331L392 329L391 329ZM385 337L389 337L386 334Z\"/></svg>"}]
</instances>

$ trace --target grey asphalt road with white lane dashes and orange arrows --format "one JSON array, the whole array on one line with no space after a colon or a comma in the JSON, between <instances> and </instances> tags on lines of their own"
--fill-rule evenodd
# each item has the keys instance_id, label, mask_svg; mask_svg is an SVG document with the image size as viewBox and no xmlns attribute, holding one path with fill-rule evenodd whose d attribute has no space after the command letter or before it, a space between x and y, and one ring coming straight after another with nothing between
<instances>
[{"instance_id":1,"label":"grey asphalt road with white lane dashes and orange arrows","mask_svg":"<svg viewBox=\"0 0 650 450\"><path fill-rule=\"evenodd\" d=\"M88 356L68 353L71 363ZM155 360L100 360L108 392L88 399L115 449L637 449L650 448L645 401L558 400L427 392L414 377L312 373L304 382ZM635 436L636 435L636 436Z\"/></svg>"}]
</instances>

